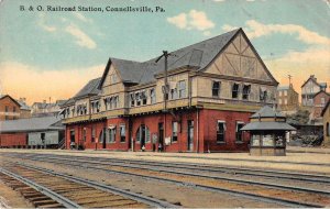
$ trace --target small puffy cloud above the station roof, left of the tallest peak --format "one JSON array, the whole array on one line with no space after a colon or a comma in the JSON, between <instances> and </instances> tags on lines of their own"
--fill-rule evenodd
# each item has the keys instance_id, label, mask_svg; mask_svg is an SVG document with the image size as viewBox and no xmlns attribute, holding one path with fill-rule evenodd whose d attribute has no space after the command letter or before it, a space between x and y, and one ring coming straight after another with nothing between
<instances>
[{"instance_id":1,"label":"small puffy cloud above the station roof, left of the tallest peak","mask_svg":"<svg viewBox=\"0 0 330 209\"><path fill-rule=\"evenodd\" d=\"M185 30L206 31L215 28L215 23L207 18L206 13L197 10L167 18L167 22Z\"/></svg>"}]
</instances>

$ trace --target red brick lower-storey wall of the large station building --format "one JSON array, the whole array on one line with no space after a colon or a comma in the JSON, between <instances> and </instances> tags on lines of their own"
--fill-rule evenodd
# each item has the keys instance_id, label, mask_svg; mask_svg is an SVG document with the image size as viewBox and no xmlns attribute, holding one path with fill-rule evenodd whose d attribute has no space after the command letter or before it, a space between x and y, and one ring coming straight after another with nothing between
<instances>
[{"instance_id":1,"label":"red brick lower-storey wall of the large station building","mask_svg":"<svg viewBox=\"0 0 330 209\"><path fill-rule=\"evenodd\" d=\"M75 130L75 142L76 144L84 144L86 148L97 148L102 150L103 144L101 142L95 143L91 142L91 127L96 127L96 136L99 139L99 135L103 128L109 128L109 125L116 125L116 142L107 143L106 148L112 151L128 151L131 148L131 139L133 140L134 151L141 151L141 143L136 142L136 132L141 124L145 124L145 127L150 130L151 141L145 143L145 150L153 150L153 140L152 135L157 134L158 136L158 123L164 124L164 142L165 138L172 136L172 122L180 121L178 123L178 134L177 142L172 142L169 145L164 147L165 152L187 152L188 151L188 120L194 121L194 148L193 152L211 152L217 151L248 151L249 144L249 134L243 134L243 143L235 142L235 122L243 121L244 123L249 122L249 117L251 113L249 112L233 112L233 111L219 111L219 110L189 110L189 111L178 111L175 113L176 118L170 113L157 113L157 114L146 114L134 117L132 119L132 128L129 125L128 118L116 118L108 119L101 122L94 123L84 123L84 124L75 124L67 125L66 128L66 147L69 148L70 144L70 130ZM199 118L199 122L197 122L197 117ZM165 119L166 118L166 119ZM166 123L164 121L166 120ZM226 143L217 143L217 122L218 120L223 120L227 123L227 132L226 132ZM121 124L125 124L125 142L120 142L120 132L119 127ZM165 127L166 124L166 127ZM198 129L197 129L198 127ZM82 142L82 130L86 128L86 142ZM132 130L131 138L129 130ZM198 136L197 136L198 132ZM160 138L160 136L158 136ZM197 147L198 144L198 147ZM155 144L155 148L157 150L158 143Z\"/></svg>"}]
</instances>

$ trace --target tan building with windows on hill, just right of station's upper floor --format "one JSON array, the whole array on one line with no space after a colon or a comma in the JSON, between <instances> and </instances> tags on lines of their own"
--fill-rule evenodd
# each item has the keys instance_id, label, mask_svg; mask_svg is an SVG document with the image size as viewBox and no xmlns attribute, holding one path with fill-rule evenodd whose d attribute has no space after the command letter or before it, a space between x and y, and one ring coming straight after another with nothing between
<instances>
[{"instance_id":1,"label":"tan building with windows on hill, just right of station's upper floor","mask_svg":"<svg viewBox=\"0 0 330 209\"><path fill-rule=\"evenodd\" d=\"M297 111L299 107L299 94L295 91L293 85L277 88L277 108L280 111Z\"/></svg>"}]
</instances>

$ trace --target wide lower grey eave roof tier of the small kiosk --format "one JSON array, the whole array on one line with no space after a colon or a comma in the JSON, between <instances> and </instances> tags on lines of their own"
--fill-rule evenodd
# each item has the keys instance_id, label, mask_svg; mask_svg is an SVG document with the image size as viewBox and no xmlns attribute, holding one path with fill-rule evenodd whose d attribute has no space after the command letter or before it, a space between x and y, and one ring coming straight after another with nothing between
<instances>
[{"instance_id":1,"label":"wide lower grey eave roof tier of the small kiosk","mask_svg":"<svg viewBox=\"0 0 330 209\"><path fill-rule=\"evenodd\" d=\"M295 131L296 129L286 122L251 122L241 129L241 131L262 131L262 130L283 130Z\"/></svg>"}]
</instances>

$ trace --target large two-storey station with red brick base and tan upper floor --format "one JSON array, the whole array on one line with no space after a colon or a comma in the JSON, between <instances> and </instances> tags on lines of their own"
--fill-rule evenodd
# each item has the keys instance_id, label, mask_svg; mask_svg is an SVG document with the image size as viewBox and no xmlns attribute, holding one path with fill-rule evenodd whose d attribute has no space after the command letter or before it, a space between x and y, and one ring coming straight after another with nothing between
<instances>
[{"instance_id":1,"label":"large two-storey station with red brick base and tan upper floor","mask_svg":"<svg viewBox=\"0 0 330 209\"><path fill-rule=\"evenodd\" d=\"M240 129L276 102L277 85L242 29L158 59L110 57L103 75L62 106L66 147L248 151Z\"/></svg>"}]
</instances>

